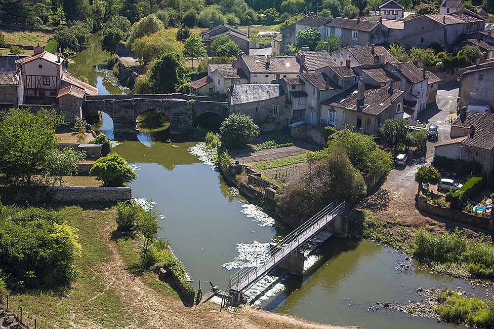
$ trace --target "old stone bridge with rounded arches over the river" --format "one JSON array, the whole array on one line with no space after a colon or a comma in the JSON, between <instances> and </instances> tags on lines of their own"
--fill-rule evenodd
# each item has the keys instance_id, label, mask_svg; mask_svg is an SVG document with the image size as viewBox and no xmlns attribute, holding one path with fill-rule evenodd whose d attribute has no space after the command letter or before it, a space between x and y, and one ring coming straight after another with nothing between
<instances>
[{"instance_id":1,"label":"old stone bridge with rounded arches over the river","mask_svg":"<svg viewBox=\"0 0 494 329\"><path fill-rule=\"evenodd\" d=\"M136 118L146 110L159 110L170 121L170 133L181 134L194 128L201 115L228 115L228 103L221 99L190 96L185 94L167 95L101 95L86 96L82 104L84 117L103 111L113 119L114 133L134 133Z\"/></svg>"}]
</instances>

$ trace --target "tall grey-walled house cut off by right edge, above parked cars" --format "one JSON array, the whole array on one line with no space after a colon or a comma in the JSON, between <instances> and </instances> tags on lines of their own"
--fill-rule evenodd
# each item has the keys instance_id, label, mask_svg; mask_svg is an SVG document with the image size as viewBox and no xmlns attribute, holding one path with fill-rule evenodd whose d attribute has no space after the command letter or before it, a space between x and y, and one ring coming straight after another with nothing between
<instances>
[{"instance_id":1,"label":"tall grey-walled house cut off by right edge, above parked cars","mask_svg":"<svg viewBox=\"0 0 494 329\"><path fill-rule=\"evenodd\" d=\"M463 68L459 74L458 108L483 104L494 109L494 59Z\"/></svg>"}]
</instances>

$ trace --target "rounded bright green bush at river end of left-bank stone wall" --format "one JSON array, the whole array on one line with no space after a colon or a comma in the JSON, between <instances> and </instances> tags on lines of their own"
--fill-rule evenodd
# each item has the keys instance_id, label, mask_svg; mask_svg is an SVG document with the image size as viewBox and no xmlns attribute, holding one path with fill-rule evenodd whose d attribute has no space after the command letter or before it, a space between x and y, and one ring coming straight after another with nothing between
<instances>
[{"instance_id":1,"label":"rounded bright green bush at river end of left-bank stone wall","mask_svg":"<svg viewBox=\"0 0 494 329\"><path fill-rule=\"evenodd\" d=\"M96 176L104 186L112 187L125 186L137 178L127 161L118 154L110 154L96 160L89 170L89 175Z\"/></svg>"}]
</instances>

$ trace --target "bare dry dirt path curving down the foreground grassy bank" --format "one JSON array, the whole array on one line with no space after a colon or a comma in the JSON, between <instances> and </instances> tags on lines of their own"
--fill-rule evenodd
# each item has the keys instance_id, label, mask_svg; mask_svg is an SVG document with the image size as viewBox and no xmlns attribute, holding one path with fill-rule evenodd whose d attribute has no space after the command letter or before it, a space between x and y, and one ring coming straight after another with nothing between
<instances>
[{"instance_id":1,"label":"bare dry dirt path curving down the foreground grassy bank","mask_svg":"<svg viewBox=\"0 0 494 329\"><path fill-rule=\"evenodd\" d=\"M105 228L109 238L110 224ZM145 285L139 277L134 277L125 269L125 263L119 255L115 242L108 239L108 248L112 254L109 262L98 269L105 292L111 290L118 294L127 311L126 328L243 328L243 329L343 329L349 327L333 327L312 323L291 316L272 314L255 310L251 307L236 311L219 312L219 305L206 303L197 308L185 307L181 301L166 297ZM95 296L97 297L97 296ZM84 319L71 319L73 328L101 328L87 323ZM81 326L83 324L83 326Z\"/></svg>"}]
</instances>

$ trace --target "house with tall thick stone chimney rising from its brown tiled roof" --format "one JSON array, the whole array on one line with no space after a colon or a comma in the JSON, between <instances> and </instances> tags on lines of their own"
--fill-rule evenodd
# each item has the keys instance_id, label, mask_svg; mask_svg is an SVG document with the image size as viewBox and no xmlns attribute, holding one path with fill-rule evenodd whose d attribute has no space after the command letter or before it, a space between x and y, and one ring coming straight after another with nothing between
<instances>
[{"instance_id":1,"label":"house with tall thick stone chimney rising from its brown tiled roof","mask_svg":"<svg viewBox=\"0 0 494 329\"><path fill-rule=\"evenodd\" d=\"M386 119L403 109L403 92L384 86L358 84L322 103L321 114L336 129L353 126L364 134L375 134Z\"/></svg>"}]
</instances>

